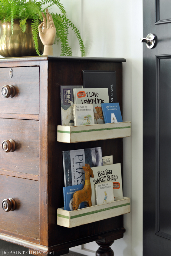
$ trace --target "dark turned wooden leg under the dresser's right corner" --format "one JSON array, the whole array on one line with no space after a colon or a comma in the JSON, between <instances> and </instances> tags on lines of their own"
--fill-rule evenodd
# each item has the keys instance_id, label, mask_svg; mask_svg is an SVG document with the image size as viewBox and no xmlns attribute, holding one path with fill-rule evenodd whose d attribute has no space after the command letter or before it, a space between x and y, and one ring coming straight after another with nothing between
<instances>
[{"instance_id":1,"label":"dark turned wooden leg under the dresser's right corner","mask_svg":"<svg viewBox=\"0 0 171 256\"><path fill-rule=\"evenodd\" d=\"M104 243L97 240L96 243L100 245L100 247L96 251L96 256L114 256L114 252L110 247L110 245L112 245L114 241Z\"/></svg>"}]
</instances>

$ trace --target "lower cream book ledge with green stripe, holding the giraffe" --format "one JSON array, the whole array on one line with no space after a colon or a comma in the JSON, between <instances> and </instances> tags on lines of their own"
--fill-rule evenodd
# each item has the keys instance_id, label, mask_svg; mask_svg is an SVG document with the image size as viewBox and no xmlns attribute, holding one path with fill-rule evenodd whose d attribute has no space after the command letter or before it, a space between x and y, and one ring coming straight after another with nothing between
<instances>
[{"instance_id":1,"label":"lower cream book ledge with green stripe, holding the giraffe","mask_svg":"<svg viewBox=\"0 0 171 256\"><path fill-rule=\"evenodd\" d=\"M99 204L91 207L65 211L64 208L57 209L57 225L73 228L83 224L100 221L130 212L130 198L123 197L122 200L107 204Z\"/></svg>"}]
</instances>

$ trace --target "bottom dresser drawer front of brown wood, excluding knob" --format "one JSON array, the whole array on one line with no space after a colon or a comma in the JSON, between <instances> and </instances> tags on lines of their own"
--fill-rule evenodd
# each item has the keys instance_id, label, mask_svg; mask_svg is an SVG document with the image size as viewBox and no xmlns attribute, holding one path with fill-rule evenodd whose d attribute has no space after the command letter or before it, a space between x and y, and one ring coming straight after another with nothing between
<instances>
[{"instance_id":1,"label":"bottom dresser drawer front of brown wood, excluding knob","mask_svg":"<svg viewBox=\"0 0 171 256\"><path fill-rule=\"evenodd\" d=\"M13 198L14 211L2 201ZM0 175L0 229L39 239L39 181Z\"/></svg>"}]
</instances>

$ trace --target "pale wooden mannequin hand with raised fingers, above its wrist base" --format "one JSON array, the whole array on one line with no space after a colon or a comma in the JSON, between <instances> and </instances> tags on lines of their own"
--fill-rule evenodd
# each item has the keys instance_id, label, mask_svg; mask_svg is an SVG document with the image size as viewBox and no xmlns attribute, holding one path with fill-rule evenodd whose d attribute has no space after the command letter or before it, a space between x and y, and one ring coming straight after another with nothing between
<instances>
[{"instance_id":1,"label":"pale wooden mannequin hand with raised fingers, above its wrist base","mask_svg":"<svg viewBox=\"0 0 171 256\"><path fill-rule=\"evenodd\" d=\"M46 9L46 16L42 12L43 22L38 26L39 36L43 45L53 45L56 35L56 28L54 26L53 18ZM43 26L43 30L42 30Z\"/></svg>"}]
</instances>

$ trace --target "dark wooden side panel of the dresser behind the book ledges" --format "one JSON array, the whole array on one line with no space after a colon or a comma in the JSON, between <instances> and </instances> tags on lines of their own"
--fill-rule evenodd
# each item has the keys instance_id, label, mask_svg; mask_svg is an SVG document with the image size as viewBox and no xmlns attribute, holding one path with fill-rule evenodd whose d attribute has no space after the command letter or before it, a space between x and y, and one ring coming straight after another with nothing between
<instances>
[{"instance_id":1,"label":"dark wooden side panel of the dresser behind the book ledges","mask_svg":"<svg viewBox=\"0 0 171 256\"><path fill-rule=\"evenodd\" d=\"M122 111L122 63L81 61L54 61L49 63L48 102L50 105L48 105L48 155L51 156L51 161L49 162L48 188L51 188L51 191L49 191L51 196L48 197L48 222L51 223L49 225L50 246L54 245L57 240L59 244L64 243L63 236L65 237L65 242L68 242L123 227L123 216L97 221L71 229L56 225L56 209L64 206L62 151L101 146L103 155L113 155L113 163L121 163L121 166L123 165L122 138L72 144L57 142L57 125L61 124L60 85L83 85L82 71L84 69L116 71L117 101L120 103ZM56 111L53 111L53 109L56 109Z\"/></svg>"}]
</instances>

